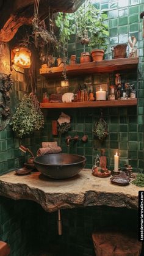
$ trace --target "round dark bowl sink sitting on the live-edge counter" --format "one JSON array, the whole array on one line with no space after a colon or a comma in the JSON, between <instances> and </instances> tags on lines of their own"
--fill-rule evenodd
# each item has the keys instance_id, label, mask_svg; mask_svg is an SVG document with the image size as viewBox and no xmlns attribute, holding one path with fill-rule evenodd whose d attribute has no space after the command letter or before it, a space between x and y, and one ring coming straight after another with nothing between
<instances>
[{"instance_id":1,"label":"round dark bowl sink sitting on the live-edge counter","mask_svg":"<svg viewBox=\"0 0 144 256\"><path fill-rule=\"evenodd\" d=\"M85 166L84 156L58 153L34 158L34 165L49 178L70 178L81 172Z\"/></svg>"}]
</instances>

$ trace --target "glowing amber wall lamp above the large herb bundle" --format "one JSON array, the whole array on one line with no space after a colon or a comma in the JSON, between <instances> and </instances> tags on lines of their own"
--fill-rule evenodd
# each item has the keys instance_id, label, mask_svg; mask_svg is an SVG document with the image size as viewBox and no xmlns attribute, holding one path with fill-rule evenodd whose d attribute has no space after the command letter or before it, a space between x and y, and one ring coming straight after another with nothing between
<instances>
[{"instance_id":1,"label":"glowing amber wall lamp above the large herb bundle","mask_svg":"<svg viewBox=\"0 0 144 256\"><path fill-rule=\"evenodd\" d=\"M13 64L22 68L31 67L31 51L25 47L14 48L13 53L15 54L13 58Z\"/></svg>"}]
</instances>

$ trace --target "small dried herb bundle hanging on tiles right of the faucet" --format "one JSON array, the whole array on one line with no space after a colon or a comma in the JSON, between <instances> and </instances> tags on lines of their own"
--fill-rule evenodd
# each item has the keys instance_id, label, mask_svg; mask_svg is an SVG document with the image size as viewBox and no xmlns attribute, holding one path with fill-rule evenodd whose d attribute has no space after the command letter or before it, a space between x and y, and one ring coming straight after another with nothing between
<instances>
[{"instance_id":1,"label":"small dried herb bundle hanging on tiles right of the faucet","mask_svg":"<svg viewBox=\"0 0 144 256\"><path fill-rule=\"evenodd\" d=\"M103 141L103 139L107 136L107 123L102 117L100 117L99 121L95 124L93 133L98 137L99 141Z\"/></svg>"}]
</instances>

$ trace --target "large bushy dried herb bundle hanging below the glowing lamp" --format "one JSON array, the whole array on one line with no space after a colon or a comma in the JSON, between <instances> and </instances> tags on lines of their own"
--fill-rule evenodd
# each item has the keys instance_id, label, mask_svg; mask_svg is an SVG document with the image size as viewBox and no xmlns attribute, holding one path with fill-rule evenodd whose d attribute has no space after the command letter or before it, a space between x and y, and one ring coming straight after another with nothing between
<instances>
[{"instance_id":1,"label":"large bushy dried herb bundle hanging below the glowing lamp","mask_svg":"<svg viewBox=\"0 0 144 256\"><path fill-rule=\"evenodd\" d=\"M44 119L34 93L24 95L12 117L13 131L18 137L33 133L43 127Z\"/></svg>"}]
</instances>

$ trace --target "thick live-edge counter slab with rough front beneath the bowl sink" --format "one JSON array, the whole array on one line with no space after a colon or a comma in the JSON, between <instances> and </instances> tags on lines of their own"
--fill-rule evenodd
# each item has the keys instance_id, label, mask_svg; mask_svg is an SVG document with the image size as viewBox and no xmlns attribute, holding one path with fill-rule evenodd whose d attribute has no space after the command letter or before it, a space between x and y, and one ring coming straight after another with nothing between
<instances>
[{"instance_id":1,"label":"thick live-edge counter slab with rough front beneath the bowl sink","mask_svg":"<svg viewBox=\"0 0 144 256\"><path fill-rule=\"evenodd\" d=\"M144 188L117 186L110 183L109 177L94 177L90 169L67 180L51 180L40 172L18 176L13 171L0 177L0 196L34 200L48 212L93 205L137 210L139 190Z\"/></svg>"}]
</instances>

